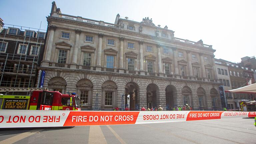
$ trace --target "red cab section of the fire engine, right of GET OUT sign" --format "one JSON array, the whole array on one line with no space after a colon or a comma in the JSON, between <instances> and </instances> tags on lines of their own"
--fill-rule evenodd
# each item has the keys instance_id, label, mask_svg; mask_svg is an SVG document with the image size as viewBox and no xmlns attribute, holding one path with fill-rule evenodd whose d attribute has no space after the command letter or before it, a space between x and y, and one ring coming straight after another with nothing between
<instances>
[{"instance_id":1,"label":"red cab section of the fire engine, right of GET OUT sign","mask_svg":"<svg viewBox=\"0 0 256 144\"><path fill-rule=\"evenodd\" d=\"M58 91L33 91L30 96L29 110L81 110L80 98L72 93Z\"/></svg>"}]
</instances>

